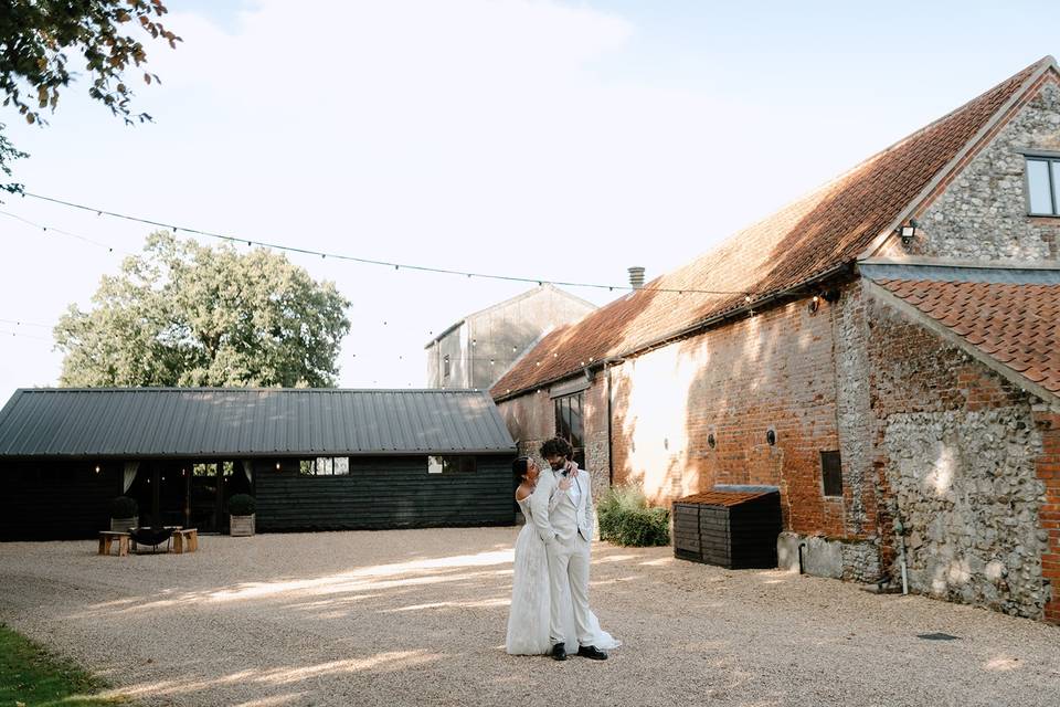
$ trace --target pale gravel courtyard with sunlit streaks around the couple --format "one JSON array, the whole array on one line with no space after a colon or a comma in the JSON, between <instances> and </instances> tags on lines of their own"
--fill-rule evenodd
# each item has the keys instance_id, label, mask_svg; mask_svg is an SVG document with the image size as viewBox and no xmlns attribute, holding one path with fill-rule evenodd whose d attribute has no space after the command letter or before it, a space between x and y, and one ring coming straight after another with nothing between
<instances>
[{"instance_id":1,"label":"pale gravel courtyard with sunlit streaks around the couple","mask_svg":"<svg viewBox=\"0 0 1060 707\"><path fill-rule=\"evenodd\" d=\"M596 544L604 663L504 652L515 528L0 544L0 621L144 705L1057 705L1060 630ZM955 641L918 634L947 633Z\"/></svg>"}]
</instances>

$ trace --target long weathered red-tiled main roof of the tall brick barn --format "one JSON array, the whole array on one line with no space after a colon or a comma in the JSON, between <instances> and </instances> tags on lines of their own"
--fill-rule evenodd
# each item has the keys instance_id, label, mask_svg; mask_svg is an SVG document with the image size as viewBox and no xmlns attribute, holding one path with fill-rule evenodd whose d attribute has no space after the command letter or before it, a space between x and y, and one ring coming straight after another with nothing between
<instances>
[{"instance_id":1,"label":"long weathered red-tiled main roof of the tall brick barn","mask_svg":"<svg viewBox=\"0 0 1060 707\"><path fill-rule=\"evenodd\" d=\"M551 333L494 386L494 398L562 379L591 361L635 354L743 307L746 294L760 300L854 262L1035 72L1051 62L1046 57L1028 66L809 196L735 233L718 249Z\"/></svg>"}]
</instances>

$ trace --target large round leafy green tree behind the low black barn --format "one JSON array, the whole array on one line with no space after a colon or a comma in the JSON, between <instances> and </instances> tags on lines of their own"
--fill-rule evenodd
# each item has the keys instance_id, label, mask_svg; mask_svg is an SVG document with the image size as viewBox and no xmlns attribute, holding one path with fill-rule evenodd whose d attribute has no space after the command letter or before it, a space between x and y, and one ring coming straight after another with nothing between
<instances>
[{"instance_id":1,"label":"large round leafy green tree behind the low black barn","mask_svg":"<svg viewBox=\"0 0 1060 707\"><path fill-rule=\"evenodd\" d=\"M104 276L91 310L61 317L60 383L333 386L349 306L283 255L157 232Z\"/></svg>"}]
</instances>

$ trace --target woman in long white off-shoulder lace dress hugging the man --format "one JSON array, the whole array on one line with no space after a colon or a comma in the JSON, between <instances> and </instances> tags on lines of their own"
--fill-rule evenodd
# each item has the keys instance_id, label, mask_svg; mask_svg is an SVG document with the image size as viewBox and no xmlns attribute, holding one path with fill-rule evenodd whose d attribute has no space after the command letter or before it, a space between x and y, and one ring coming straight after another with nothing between
<instances>
[{"instance_id":1,"label":"woman in long white off-shoulder lace dress hugging the man","mask_svg":"<svg viewBox=\"0 0 1060 707\"><path fill-rule=\"evenodd\" d=\"M537 485L540 469L533 460L520 456L512 469L522 479L516 489L516 502L527 524L516 538L515 572L511 580L511 612L508 614L508 637L505 650L511 655L544 655L552 650L549 641L549 557L544 541L533 527L530 495ZM551 504L554 502L550 500ZM563 633L568 645L577 646L574 627L574 604L570 590L563 592ZM600 627L596 615L590 612L589 623L593 629L593 645L601 650L616 648L622 642Z\"/></svg>"}]
</instances>

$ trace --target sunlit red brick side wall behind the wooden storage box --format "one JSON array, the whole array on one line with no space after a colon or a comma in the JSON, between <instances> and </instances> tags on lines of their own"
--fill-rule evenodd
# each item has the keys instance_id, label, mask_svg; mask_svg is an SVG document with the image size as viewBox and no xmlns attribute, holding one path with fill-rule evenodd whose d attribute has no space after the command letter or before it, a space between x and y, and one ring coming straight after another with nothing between
<instances>
[{"instance_id":1,"label":"sunlit red brick side wall behind the wooden storage box","mask_svg":"<svg viewBox=\"0 0 1060 707\"><path fill-rule=\"evenodd\" d=\"M615 370L615 482L654 503L717 483L781 487L785 527L845 536L825 498L822 451L837 450L835 305L807 299L650 351ZM766 431L776 432L776 444ZM708 437L713 433L716 445Z\"/></svg>"}]
</instances>

